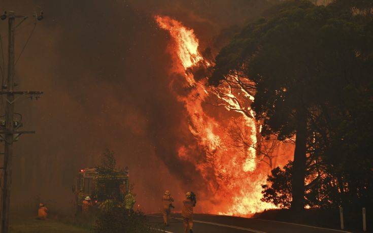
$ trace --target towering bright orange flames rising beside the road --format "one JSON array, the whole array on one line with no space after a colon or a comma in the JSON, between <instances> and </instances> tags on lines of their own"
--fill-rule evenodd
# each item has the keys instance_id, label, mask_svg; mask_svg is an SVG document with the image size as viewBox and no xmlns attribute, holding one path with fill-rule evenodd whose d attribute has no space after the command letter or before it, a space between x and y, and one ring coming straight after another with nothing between
<instances>
[{"instance_id":1,"label":"towering bright orange flames rising beside the road","mask_svg":"<svg viewBox=\"0 0 373 233\"><path fill-rule=\"evenodd\" d=\"M229 83L221 84L220 92L217 92L216 88L205 85L207 78L196 82L193 74L187 70L194 66L208 68L210 63L199 53L193 29L167 16L155 16L155 19L159 27L167 30L173 39L169 49L175 59L174 68L170 72L182 75L185 85L192 87L188 88L187 95L178 95L177 99L184 103L190 119L189 130L200 148L183 145L178 155L182 160L193 162L208 184L207 192L211 195L207 196L212 197L201 200L199 210L213 214L250 216L274 208L260 201L261 184L265 183L270 168L258 162L261 157L257 155L254 146L232 146L235 140L229 136L232 129L238 128L248 144L257 144L260 124L255 121L250 109L253 96L242 87L232 88ZM231 79L238 81L237 77ZM222 113L213 117L214 114L204 108L205 103L224 107L219 108ZM204 162L193 157L196 149L205 152Z\"/></svg>"}]
</instances>

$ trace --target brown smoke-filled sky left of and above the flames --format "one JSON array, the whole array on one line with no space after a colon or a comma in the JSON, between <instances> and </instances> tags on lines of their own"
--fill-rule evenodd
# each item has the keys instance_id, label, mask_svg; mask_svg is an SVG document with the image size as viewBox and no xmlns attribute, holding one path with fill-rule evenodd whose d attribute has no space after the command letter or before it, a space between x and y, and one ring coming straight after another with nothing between
<instances>
[{"instance_id":1,"label":"brown smoke-filled sky left of and above the flames","mask_svg":"<svg viewBox=\"0 0 373 233\"><path fill-rule=\"evenodd\" d=\"M0 1L0 11L44 11L16 64L18 90L43 90L22 98L16 112L23 130L15 143L12 203L45 202L66 209L77 171L94 167L105 148L118 167L130 168L138 204L158 209L162 191L203 189L194 164L177 158L193 143L183 103L170 90L171 38L154 15L169 15L193 28L201 49L215 53L268 7L267 1ZM18 57L33 27L16 30ZM7 21L0 21L7 57Z\"/></svg>"}]
</instances>

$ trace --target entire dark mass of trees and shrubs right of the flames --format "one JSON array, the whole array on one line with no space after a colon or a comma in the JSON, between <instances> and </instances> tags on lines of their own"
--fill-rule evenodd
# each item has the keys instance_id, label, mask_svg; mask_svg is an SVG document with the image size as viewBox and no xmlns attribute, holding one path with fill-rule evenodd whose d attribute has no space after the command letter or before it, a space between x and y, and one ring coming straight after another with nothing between
<instances>
[{"instance_id":1,"label":"entire dark mass of trees and shrubs right of the flames","mask_svg":"<svg viewBox=\"0 0 373 233\"><path fill-rule=\"evenodd\" d=\"M263 136L296 135L294 163L268 177L265 201L288 207L285 192L300 192L311 207L373 204L372 7L363 0L327 7L287 1L216 57L211 83L229 75L255 82L252 108Z\"/></svg>"}]
</instances>

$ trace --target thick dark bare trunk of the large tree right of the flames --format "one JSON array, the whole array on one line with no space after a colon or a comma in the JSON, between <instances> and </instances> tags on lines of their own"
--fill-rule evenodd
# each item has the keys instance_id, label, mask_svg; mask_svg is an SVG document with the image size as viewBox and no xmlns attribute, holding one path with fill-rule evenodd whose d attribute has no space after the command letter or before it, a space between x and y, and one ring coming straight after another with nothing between
<instances>
[{"instance_id":1,"label":"thick dark bare trunk of the large tree right of the flames","mask_svg":"<svg viewBox=\"0 0 373 233\"><path fill-rule=\"evenodd\" d=\"M306 177L306 144L307 144L307 116L298 114L295 139L293 173L292 173L292 202L293 211L304 209L304 179Z\"/></svg>"}]
</instances>

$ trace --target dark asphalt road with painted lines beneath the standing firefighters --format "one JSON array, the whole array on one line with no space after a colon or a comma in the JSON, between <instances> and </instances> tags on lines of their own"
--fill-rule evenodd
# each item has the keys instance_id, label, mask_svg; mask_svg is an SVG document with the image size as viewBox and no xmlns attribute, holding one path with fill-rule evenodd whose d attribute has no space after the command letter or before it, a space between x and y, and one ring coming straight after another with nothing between
<instances>
[{"instance_id":1,"label":"dark asphalt road with painted lines beneath the standing firefighters","mask_svg":"<svg viewBox=\"0 0 373 233\"><path fill-rule=\"evenodd\" d=\"M148 215L150 222L161 224L163 222L160 214ZM158 227L157 229L159 229ZM171 223L165 227L165 232L182 233L183 220L180 214L173 214ZM349 232L314 226L306 226L293 223L260 220L253 218L240 218L231 216L194 214L193 233L338 233Z\"/></svg>"}]
</instances>

